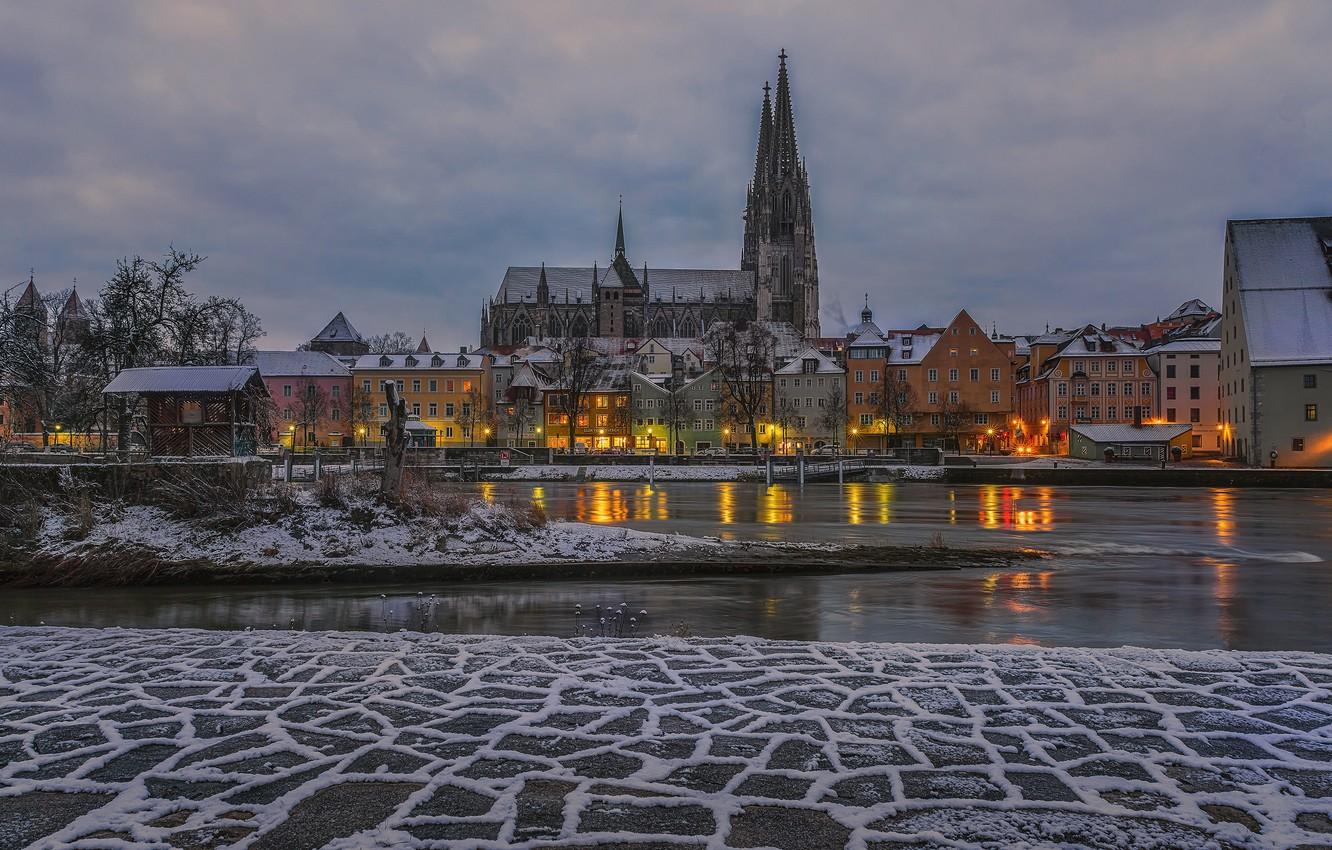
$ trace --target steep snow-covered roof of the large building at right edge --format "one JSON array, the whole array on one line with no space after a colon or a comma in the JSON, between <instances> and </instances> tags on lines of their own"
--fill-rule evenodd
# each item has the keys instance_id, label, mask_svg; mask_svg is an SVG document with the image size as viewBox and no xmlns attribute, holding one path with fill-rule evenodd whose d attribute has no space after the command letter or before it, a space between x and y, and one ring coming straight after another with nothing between
<instances>
[{"instance_id":1,"label":"steep snow-covered roof of the large building at right edge","mask_svg":"<svg viewBox=\"0 0 1332 850\"><path fill-rule=\"evenodd\" d=\"M1332 217L1231 221L1253 365L1332 362Z\"/></svg>"}]
</instances>

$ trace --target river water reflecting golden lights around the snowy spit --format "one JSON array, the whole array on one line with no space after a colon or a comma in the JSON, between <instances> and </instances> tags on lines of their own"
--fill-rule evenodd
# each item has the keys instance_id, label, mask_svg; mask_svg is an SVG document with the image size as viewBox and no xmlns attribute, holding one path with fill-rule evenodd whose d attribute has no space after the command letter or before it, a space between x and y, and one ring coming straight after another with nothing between
<instances>
[{"instance_id":1,"label":"river water reflecting golden lights around the snowy spit","mask_svg":"<svg viewBox=\"0 0 1332 850\"><path fill-rule=\"evenodd\" d=\"M1019 569L450 585L0 590L0 622L653 633L1332 651L1332 492L847 484L484 484L551 518L734 540L1031 546ZM589 618L583 617L581 622Z\"/></svg>"}]
</instances>

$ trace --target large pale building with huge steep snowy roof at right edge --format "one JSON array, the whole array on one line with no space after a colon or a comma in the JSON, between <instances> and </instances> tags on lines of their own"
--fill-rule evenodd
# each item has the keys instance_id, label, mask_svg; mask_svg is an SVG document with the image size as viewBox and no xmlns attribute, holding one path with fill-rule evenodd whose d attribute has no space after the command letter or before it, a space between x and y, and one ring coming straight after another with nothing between
<instances>
[{"instance_id":1,"label":"large pale building with huge steep snowy roof at right edge","mask_svg":"<svg viewBox=\"0 0 1332 850\"><path fill-rule=\"evenodd\" d=\"M1332 466L1332 217L1229 221L1221 444L1253 466Z\"/></svg>"}]
</instances>

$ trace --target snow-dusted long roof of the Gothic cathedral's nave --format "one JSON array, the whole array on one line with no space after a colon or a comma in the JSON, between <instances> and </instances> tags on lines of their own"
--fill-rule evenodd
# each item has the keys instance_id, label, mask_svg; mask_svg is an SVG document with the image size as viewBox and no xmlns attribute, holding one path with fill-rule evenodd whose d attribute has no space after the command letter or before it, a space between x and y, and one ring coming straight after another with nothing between
<instances>
[{"instance_id":1,"label":"snow-dusted long roof of the Gothic cathedral's nave","mask_svg":"<svg viewBox=\"0 0 1332 850\"><path fill-rule=\"evenodd\" d=\"M613 274L610 268L598 269L602 285ZM575 304L591 304L591 266L546 266L546 285L550 288L551 304L565 300ZM517 304L537 301L537 284L541 280L539 265L510 265L496 301ZM651 269L653 301L669 302L671 293L679 301L747 301L754 293L754 272L739 269ZM618 281L617 281L618 282Z\"/></svg>"}]
</instances>

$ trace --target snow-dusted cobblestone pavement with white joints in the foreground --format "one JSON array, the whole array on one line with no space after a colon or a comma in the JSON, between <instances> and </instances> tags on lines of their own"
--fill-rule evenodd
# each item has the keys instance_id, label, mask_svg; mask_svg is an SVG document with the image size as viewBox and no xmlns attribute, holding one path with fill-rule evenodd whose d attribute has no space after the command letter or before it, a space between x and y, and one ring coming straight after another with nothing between
<instances>
[{"instance_id":1,"label":"snow-dusted cobblestone pavement with white joints in the foreground","mask_svg":"<svg viewBox=\"0 0 1332 850\"><path fill-rule=\"evenodd\" d=\"M1332 847L1332 657L0 629L0 849Z\"/></svg>"}]
</instances>

